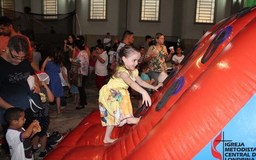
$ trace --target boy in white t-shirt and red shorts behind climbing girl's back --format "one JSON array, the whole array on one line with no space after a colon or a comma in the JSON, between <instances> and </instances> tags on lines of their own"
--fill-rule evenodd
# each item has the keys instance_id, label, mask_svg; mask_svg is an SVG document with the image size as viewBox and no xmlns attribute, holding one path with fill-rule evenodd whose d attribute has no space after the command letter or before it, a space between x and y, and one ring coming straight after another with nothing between
<instances>
[{"instance_id":1,"label":"boy in white t-shirt and red shorts behind climbing girl's back","mask_svg":"<svg viewBox=\"0 0 256 160\"><path fill-rule=\"evenodd\" d=\"M97 58L96 64L95 64L95 81L96 81L96 87L99 89L105 85L105 79L108 75L108 61L109 57L106 51L104 51L104 45L97 44L96 45L96 52L94 52L94 56Z\"/></svg>"}]
</instances>

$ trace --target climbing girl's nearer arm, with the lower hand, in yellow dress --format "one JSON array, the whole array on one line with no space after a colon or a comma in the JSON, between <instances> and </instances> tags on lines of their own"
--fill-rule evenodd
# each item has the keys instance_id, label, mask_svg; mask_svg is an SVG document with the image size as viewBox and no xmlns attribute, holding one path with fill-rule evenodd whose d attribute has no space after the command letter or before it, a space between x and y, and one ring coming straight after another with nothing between
<instances>
[{"instance_id":1,"label":"climbing girl's nearer arm, with the lower hand, in yellow dress","mask_svg":"<svg viewBox=\"0 0 256 160\"><path fill-rule=\"evenodd\" d=\"M134 82L127 73L125 72L118 72L117 76L120 76L122 78L122 80L129 85L130 87L132 87L135 91L139 92L142 94L143 100L142 103L145 102L146 106L147 104L149 106L151 106L151 98L148 95L148 93L146 92L145 89L143 89L140 85L138 85L136 82ZM146 82L145 82L146 83Z\"/></svg>"}]
</instances>

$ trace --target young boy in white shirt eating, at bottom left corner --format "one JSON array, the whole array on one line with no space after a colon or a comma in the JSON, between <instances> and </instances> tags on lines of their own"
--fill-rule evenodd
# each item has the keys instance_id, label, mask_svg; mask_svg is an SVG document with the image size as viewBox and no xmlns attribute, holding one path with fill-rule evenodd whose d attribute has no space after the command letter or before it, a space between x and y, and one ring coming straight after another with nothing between
<instances>
[{"instance_id":1,"label":"young boy in white shirt eating, at bottom left corner","mask_svg":"<svg viewBox=\"0 0 256 160\"><path fill-rule=\"evenodd\" d=\"M38 122L33 120L25 130L23 127L26 119L22 108L11 107L4 113L4 120L9 125L6 140L11 152L11 160L33 160L33 149L30 138L36 133L34 125Z\"/></svg>"}]
</instances>

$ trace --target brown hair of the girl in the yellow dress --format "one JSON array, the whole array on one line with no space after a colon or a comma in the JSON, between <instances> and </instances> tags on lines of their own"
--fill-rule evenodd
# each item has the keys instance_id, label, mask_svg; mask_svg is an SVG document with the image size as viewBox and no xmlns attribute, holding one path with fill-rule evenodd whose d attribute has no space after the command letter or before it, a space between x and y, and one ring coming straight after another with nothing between
<instances>
[{"instance_id":1,"label":"brown hair of the girl in the yellow dress","mask_svg":"<svg viewBox=\"0 0 256 160\"><path fill-rule=\"evenodd\" d=\"M111 78L119 78L119 76L116 74L119 67L124 67L129 72L129 76L132 74L132 71L125 67L124 62L122 61L122 57L124 56L125 58L128 58L132 56L134 52L140 53L140 50L133 45L125 45L119 50L117 64Z\"/></svg>"}]
</instances>

